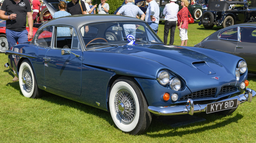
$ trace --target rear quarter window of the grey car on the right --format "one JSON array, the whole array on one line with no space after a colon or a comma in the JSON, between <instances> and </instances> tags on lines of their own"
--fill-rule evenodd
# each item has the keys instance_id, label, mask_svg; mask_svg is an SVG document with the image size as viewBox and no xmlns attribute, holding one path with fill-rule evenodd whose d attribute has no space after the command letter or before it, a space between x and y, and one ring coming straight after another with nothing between
<instances>
[{"instance_id":1,"label":"rear quarter window of the grey car on the right","mask_svg":"<svg viewBox=\"0 0 256 143\"><path fill-rule=\"evenodd\" d=\"M229 28L226 29L224 31L222 31L219 34L219 39L224 39L224 40L238 40L238 31L237 31L237 27L234 28Z\"/></svg>"}]
</instances>

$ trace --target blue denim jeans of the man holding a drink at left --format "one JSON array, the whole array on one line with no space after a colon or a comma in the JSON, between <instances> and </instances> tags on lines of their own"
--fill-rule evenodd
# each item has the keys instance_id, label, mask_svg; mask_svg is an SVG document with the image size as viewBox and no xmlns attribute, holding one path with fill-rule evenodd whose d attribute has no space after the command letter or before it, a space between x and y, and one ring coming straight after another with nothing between
<instances>
[{"instance_id":1,"label":"blue denim jeans of the man holding a drink at left","mask_svg":"<svg viewBox=\"0 0 256 143\"><path fill-rule=\"evenodd\" d=\"M14 31L6 29L6 39L8 41L9 49L18 43L25 43L28 41L28 31Z\"/></svg>"}]
</instances>

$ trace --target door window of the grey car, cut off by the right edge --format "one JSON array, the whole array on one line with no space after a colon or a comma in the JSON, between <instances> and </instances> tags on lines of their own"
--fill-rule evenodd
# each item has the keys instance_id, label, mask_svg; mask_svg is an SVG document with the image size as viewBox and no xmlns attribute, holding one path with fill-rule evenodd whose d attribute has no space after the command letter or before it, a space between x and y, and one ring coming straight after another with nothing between
<instances>
[{"instance_id":1,"label":"door window of the grey car, cut off by the right edge","mask_svg":"<svg viewBox=\"0 0 256 143\"><path fill-rule=\"evenodd\" d=\"M256 27L240 27L240 42L256 43Z\"/></svg>"}]
</instances>

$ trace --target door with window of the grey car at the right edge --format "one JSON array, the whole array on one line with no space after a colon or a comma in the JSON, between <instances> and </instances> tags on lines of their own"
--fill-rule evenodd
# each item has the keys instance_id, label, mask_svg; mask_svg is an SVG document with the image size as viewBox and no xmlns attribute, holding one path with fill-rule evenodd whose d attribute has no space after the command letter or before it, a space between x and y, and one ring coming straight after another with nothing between
<instances>
[{"instance_id":1,"label":"door with window of the grey car at the right edge","mask_svg":"<svg viewBox=\"0 0 256 143\"><path fill-rule=\"evenodd\" d=\"M256 27L240 26L240 40L235 55L245 59L249 71L256 71Z\"/></svg>"}]
</instances>

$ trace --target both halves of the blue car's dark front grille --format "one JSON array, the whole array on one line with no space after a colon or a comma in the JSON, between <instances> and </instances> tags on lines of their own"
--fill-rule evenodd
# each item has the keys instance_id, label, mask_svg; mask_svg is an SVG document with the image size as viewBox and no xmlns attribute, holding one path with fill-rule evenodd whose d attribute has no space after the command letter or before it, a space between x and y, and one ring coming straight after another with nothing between
<instances>
[{"instance_id":1,"label":"both halves of the blue car's dark front grille","mask_svg":"<svg viewBox=\"0 0 256 143\"><path fill-rule=\"evenodd\" d=\"M221 88L220 94L232 92L235 90L236 90L236 88L233 86L225 86L225 87ZM179 101L187 100L189 98L195 99L195 98L201 98L201 97L213 97L213 96L215 96L215 92L216 92L216 88L204 89L204 90L200 90L200 91L194 92L192 94L183 96Z\"/></svg>"}]
</instances>

